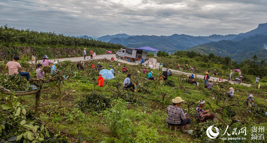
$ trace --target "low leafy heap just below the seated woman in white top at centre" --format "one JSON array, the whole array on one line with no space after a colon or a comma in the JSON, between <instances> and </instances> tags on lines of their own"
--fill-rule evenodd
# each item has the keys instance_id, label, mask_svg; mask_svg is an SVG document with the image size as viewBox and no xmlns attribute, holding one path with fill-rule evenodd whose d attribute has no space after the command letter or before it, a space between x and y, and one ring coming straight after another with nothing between
<instances>
[{"instance_id":1,"label":"low leafy heap just below the seated woman in white top at centre","mask_svg":"<svg viewBox=\"0 0 267 143\"><path fill-rule=\"evenodd\" d=\"M143 105L144 102L140 101L140 98L136 96L134 92L127 91L127 90L122 90L119 94L119 98L128 101L128 102L134 102L140 105Z\"/></svg>"}]
</instances>

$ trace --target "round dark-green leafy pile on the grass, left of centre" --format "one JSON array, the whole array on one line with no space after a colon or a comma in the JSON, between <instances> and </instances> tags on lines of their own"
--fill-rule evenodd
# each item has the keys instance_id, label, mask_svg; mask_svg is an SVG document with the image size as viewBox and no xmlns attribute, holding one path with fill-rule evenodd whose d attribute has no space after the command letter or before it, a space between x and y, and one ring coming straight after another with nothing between
<instances>
[{"instance_id":1,"label":"round dark-green leafy pile on the grass, left of centre","mask_svg":"<svg viewBox=\"0 0 267 143\"><path fill-rule=\"evenodd\" d=\"M111 108L111 98L98 92L91 92L83 96L82 100L79 100L77 106L82 111L95 110L101 111L106 108Z\"/></svg>"}]
</instances>

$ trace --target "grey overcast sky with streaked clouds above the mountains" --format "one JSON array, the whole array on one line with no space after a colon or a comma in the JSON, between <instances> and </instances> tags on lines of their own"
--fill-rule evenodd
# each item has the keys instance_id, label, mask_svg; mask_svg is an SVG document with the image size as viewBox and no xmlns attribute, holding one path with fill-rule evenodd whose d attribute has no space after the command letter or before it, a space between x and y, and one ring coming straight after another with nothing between
<instances>
[{"instance_id":1,"label":"grey overcast sky with streaked clouds above the mountains","mask_svg":"<svg viewBox=\"0 0 267 143\"><path fill-rule=\"evenodd\" d=\"M0 0L0 25L64 35L238 34L267 23L266 0Z\"/></svg>"}]
</instances>

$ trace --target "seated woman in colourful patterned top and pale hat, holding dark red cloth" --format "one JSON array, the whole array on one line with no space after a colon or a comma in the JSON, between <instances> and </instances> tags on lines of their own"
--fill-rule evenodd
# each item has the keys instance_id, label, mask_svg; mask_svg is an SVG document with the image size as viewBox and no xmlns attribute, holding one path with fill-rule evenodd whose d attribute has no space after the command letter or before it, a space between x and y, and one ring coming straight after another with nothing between
<instances>
[{"instance_id":1,"label":"seated woman in colourful patterned top and pale hat, holding dark red cloth","mask_svg":"<svg viewBox=\"0 0 267 143\"><path fill-rule=\"evenodd\" d=\"M199 101L199 105L197 105L196 108L196 117L199 119L201 123L204 123L206 120L213 120L215 115L210 114L210 110L204 110L203 108L205 107L205 100Z\"/></svg>"}]
</instances>

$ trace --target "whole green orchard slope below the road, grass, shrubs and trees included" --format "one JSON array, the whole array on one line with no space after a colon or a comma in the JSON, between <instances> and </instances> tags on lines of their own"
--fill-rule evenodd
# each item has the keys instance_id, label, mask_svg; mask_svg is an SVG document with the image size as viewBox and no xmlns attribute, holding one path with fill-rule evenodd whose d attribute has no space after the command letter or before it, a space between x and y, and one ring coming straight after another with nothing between
<instances>
[{"instance_id":1,"label":"whole green orchard slope below the road, grass, shrubs and trees included","mask_svg":"<svg viewBox=\"0 0 267 143\"><path fill-rule=\"evenodd\" d=\"M170 61L170 66L177 64L175 60L187 61L190 65L192 64L190 63L191 61L196 61L194 58L186 57L180 57L175 60L169 59L169 57L165 59ZM215 57L215 59L218 58ZM215 61L215 59L211 60ZM83 141L102 143L223 142L221 138L229 136L223 135L211 140L206 135L206 129L210 125L215 125L219 128L220 133L224 133L226 125L229 125L228 133L232 133L234 128L239 130L242 127L247 127L247 135L231 135L230 137L246 137L247 140L242 140L242 142L261 141L250 140L250 138L252 126L266 126L265 112L267 112L267 107L265 101L266 88L264 87L258 89L254 88L254 86L246 87L238 84L231 85L228 82L213 81L215 86L212 90L208 90L203 88L203 79L196 79L199 82L199 86L195 86L183 80L187 78L185 75L175 72L173 72L173 76L168 77L168 80L164 82L143 81L144 78L147 78L147 74L138 72L143 67L126 65L132 74L131 79L135 83L140 83L140 85L137 84L138 93L134 93L130 89L123 88L122 83L126 78L126 74L122 74L122 69L119 68L115 70L115 79L105 80L103 87L97 86L98 75L95 74L96 70L91 68L93 62L96 63L98 61L85 62L85 70L81 71L77 70L75 66L77 63L71 63L70 61L59 62L58 69L61 72L58 78L52 78L48 73L45 75L44 80L40 80L42 82L50 81L44 84L41 84L39 80L33 77L35 65L28 65L28 67L25 65L24 68L29 69L29 72L32 73L30 84L35 82L35 85L42 87L37 90L41 92L40 104L37 104L39 111L36 112L35 110L36 100L34 97L36 98L37 94L19 95L14 93L17 94L14 96L1 93L0 104L2 109L0 110L0 119L2 125L0 138L3 140L18 139L18 142L23 140L41 142L42 139L45 142ZM196 61L197 64L198 62ZM117 64L117 62L110 62L109 60L101 60L101 63L106 69L110 69L108 68L109 65L114 67ZM221 66L219 63L208 63L207 65L209 64L215 66L216 69ZM167 64L165 65L167 66ZM195 70L197 71L197 68ZM153 69L153 71L153 75L156 77L162 74L160 70ZM5 74L7 70L2 72ZM68 80L59 78L62 75L69 75L70 78ZM3 75L0 77L0 82L2 83L6 77ZM251 80L254 80L254 77ZM10 79L10 82L16 83L17 81ZM58 85L60 88L58 88ZM230 86L235 89L233 99L226 97L225 88L228 89ZM71 92L73 89L76 92ZM27 92L30 92L30 90ZM253 94L253 100L256 101L253 108L244 103L249 94ZM118 99L116 99L117 95ZM168 105L172 105L172 98L177 96L186 101L181 108L190 116L192 124L189 129L194 130L192 135L174 132L166 124L166 108ZM195 120L195 108L197 102L202 99L205 99L207 103L205 110L210 109L221 120L205 123L198 123ZM60 103L61 106L59 106ZM21 109L20 114L18 108ZM25 120L25 123L22 120ZM26 125L27 128L23 125ZM34 128L32 129L32 127ZM37 138L31 129L36 133ZM22 137L20 138L19 135L21 134ZM266 130L264 135L266 137ZM236 141L228 140L227 142Z\"/></svg>"}]
</instances>

